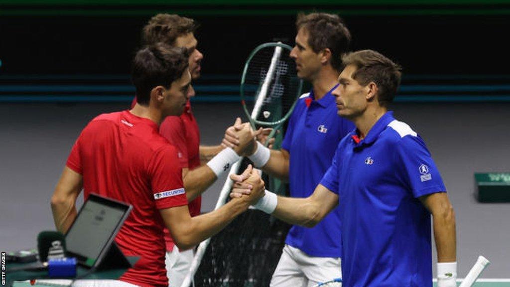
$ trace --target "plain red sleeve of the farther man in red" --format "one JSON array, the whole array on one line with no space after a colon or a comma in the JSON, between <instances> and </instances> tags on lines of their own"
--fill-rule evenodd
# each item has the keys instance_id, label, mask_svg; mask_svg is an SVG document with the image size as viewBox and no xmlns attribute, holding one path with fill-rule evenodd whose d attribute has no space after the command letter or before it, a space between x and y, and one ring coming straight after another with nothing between
<instances>
[{"instance_id":1,"label":"plain red sleeve of the farther man in red","mask_svg":"<svg viewBox=\"0 0 510 287\"><path fill-rule=\"evenodd\" d=\"M177 149L177 158L183 169L189 167L188 145L184 123L179 116L167 116L160 126L160 134Z\"/></svg>"}]
</instances>

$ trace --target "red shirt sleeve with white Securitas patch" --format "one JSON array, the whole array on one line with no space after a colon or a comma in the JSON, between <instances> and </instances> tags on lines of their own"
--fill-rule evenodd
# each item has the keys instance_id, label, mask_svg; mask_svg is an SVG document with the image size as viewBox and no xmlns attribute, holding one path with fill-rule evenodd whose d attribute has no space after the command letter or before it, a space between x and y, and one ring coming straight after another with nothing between
<instances>
[{"instance_id":1,"label":"red shirt sleeve with white Securitas patch","mask_svg":"<svg viewBox=\"0 0 510 287\"><path fill-rule=\"evenodd\" d=\"M149 163L151 188L158 209L188 204L182 168L177 162L175 148L167 145L156 151Z\"/></svg>"}]
</instances>

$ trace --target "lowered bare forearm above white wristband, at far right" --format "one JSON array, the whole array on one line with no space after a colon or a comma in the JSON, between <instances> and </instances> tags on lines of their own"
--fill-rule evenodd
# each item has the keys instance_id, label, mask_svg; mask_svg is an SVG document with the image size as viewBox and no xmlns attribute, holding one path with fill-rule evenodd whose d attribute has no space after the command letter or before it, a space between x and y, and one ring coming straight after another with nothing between
<instances>
[{"instance_id":1,"label":"lowered bare forearm above white wristband, at far right","mask_svg":"<svg viewBox=\"0 0 510 287\"><path fill-rule=\"evenodd\" d=\"M438 262L456 261L455 213L451 206L432 216Z\"/></svg>"}]
</instances>

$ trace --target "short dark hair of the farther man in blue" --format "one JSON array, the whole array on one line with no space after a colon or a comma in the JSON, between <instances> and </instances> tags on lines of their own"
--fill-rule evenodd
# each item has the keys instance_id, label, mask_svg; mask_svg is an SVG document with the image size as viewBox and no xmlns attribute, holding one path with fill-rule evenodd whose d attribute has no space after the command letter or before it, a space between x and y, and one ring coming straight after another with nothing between
<instances>
[{"instance_id":1,"label":"short dark hair of the farther man in blue","mask_svg":"<svg viewBox=\"0 0 510 287\"><path fill-rule=\"evenodd\" d=\"M331 66L342 70L342 55L349 49L351 35L342 18L335 14L311 13L297 15L297 31L308 32L308 44L315 53L328 48L331 51Z\"/></svg>"}]
</instances>

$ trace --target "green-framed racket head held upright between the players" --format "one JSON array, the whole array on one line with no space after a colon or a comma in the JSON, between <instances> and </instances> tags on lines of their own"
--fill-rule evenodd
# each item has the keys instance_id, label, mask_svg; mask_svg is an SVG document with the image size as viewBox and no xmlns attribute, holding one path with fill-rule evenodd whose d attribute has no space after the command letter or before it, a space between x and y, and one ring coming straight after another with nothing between
<instances>
[{"instance_id":1,"label":"green-framed racket head held upright between the players","mask_svg":"<svg viewBox=\"0 0 510 287\"><path fill-rule=\"evenodd\" d=\"M297 77L291 50L283 43L264 43L246 60L240 95L253 127L283 124L301 95L303 81Z\"/></svg>"}]
</instances>

